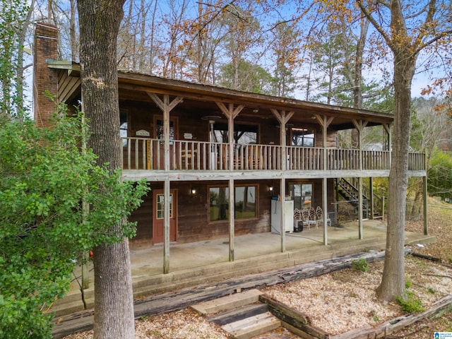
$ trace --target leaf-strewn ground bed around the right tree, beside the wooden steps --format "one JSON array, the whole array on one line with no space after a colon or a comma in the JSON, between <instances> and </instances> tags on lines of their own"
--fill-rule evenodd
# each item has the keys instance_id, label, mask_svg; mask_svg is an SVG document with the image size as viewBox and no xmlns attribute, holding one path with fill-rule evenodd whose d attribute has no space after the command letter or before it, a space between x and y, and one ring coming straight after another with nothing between
<instances>
[{"instance_id":1,"label":"leaf-strewn ground bed around the right tree, beside the wooden steps","mask_svg":"<svg viewBox=\"0 0 452 339\"><path fill-rule=\"evenodd\" d=\"M412 281L410 292L427 309L452 290L452 268L434 265L408 256L405 271ZM263 292L309 316L311 323L331 335L400 316L395 302L383 304L376 299L383 262L371 263L367 272L347 268L316 278L269 287ZM444 278L447 275L448 278Z\"/></svg>"}]
</instances>

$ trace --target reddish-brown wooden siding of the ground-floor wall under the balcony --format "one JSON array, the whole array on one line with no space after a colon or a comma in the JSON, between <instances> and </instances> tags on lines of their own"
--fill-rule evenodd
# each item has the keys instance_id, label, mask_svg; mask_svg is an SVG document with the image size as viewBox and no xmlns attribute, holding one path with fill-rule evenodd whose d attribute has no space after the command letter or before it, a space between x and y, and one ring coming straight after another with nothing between
<instances>
[{"instance_id":1,"label":"reddish-brown wooden siding of the ground-floor wall under the balcony","mask_svg":"<svg viewBox=\"0 0 452 339\"><path fill-rule=\"evenodd\" d=\"M322 182L314 180L291 180L289 184L311 183L313 184L312 206L322 206ZM229 234L229 222L209 222L209 188L213 186L225 186L225 182L196 182L196 183L172 183L171 188L177 189L178 194L178 226L177 242L201 242L210 239L227 238ZM257 185L258 205L256 206L257 217L249 220L235 220L235 235L270 232L270 205L272 192L268 190L273 186L273 194L278 195L280 190L279 181L271 180L249 181L237 180L236 186ZM151 183L153 189L163 189L162 183ZM196 188L196 194L191 194L191 187ZM328 192L333 192L333 179L328 179ZM131 239L131 249L140 249L152 244L153 234L153 201L152 192L143 198L141 206L134 210L129 220L138 222L136 237ZM328 212L334 211L333 194L328 194Z\"/></svg>"}]
</instances>

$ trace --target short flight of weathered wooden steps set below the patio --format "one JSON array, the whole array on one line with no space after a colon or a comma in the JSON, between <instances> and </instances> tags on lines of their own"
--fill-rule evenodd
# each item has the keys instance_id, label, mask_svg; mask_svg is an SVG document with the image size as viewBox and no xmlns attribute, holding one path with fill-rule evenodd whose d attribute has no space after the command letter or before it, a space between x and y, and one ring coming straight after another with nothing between
<instances>
[{"instance_id":1,"label":"short flight of weathered wooden steps set below the patio","mask_svg":"<svg viewBox=\"0 0 452 339\"><path fill-rule=\"evenodd\" d=\"M278 318L259 302L259 290L247 290L192 305L191 308L217 323L231 338L249 339L281 326Z\"/></svg>"}]
</instances>

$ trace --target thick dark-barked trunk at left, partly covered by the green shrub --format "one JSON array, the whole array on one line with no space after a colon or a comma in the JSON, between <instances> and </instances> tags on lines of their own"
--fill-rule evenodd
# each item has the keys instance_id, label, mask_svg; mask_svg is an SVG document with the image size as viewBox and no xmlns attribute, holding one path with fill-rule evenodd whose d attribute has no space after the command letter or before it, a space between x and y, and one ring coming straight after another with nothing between
<instances>
[{"instance_id":1,"label":"thick dark-barked trunk at left, partly covered by the green shrub","mask_svg":"<svg viewBox=\"0 0 452 339\"><path fill-rule=\"evenodd\" d=\"M82 102L91 131L88 147L98 155L99 164L109 163L110 170L121 166L117 35L124 1L78 0ZM133 338L128 240L97 246L94 270L94 338Z\"/></svg>"}]
</instances>

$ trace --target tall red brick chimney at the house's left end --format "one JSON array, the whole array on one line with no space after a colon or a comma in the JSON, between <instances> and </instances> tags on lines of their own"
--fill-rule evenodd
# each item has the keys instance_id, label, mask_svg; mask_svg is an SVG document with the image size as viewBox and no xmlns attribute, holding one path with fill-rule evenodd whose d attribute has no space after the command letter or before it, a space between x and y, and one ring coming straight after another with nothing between
<instances>
[{"instance_id":1,"label":"tall red brick chimney at the house's left end","mask_svg":"<svg viewBox=\"0 0 452 339\"><path fill-rule=\"evenodd\" d=\"M50 126L55 104L44 93L57 95L57 70L49 69L47 61L58 58L58 29L49 23L37 23L33 53L33 109L35 123L40 127Z\"/></svg>"}]
</instances>

